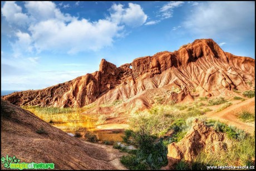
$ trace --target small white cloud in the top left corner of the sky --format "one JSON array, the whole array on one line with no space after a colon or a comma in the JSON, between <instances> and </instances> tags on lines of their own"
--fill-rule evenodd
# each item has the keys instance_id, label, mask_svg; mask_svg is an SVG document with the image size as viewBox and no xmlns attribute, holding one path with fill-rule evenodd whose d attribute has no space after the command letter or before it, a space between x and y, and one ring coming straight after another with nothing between
<instances>
[{"instance_id":1,"label":"small white cloud in the top left corner of the sky","mask_svg":"<svg viewBox=\"0 0 256 171\"><path fill-rule=\"evenodd\" d=\"M28 22L28 16L22 13L22 8L14 1L7 1L1 8L1 13L11 24L23 25Z\"/></svg>"}]
</instances>

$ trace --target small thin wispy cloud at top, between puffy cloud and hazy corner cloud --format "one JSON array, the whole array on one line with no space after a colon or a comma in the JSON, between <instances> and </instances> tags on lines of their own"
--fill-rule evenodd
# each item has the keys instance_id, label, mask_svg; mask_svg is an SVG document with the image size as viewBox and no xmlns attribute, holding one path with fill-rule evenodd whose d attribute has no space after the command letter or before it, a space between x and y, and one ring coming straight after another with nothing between
<instances>
[{"instance_id":1,"label":"small thin wispy cloud at top, between puffy cloud and hazy corner cloud","mask_svg":"<svg viewBox=\"0 0 256 171\"><path fill-rule=\"evenodd\" d=\"M182 6L182 1L170 1L160 8L163 19L173 17L173 8Z\"/></svg>"}]
</instances>

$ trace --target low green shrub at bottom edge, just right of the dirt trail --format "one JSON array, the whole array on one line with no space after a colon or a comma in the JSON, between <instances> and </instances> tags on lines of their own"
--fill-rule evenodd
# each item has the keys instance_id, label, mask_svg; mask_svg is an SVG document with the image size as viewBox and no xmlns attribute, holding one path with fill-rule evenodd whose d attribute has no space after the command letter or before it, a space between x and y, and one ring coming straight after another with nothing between
<instances>
[{"instance_id":1,"label":"low green shrub at bottom edge, just right of the dirt trail","mask_svg":"<svg viewBox=\"0 0 256 171\"><path fill-rule=\"evenodd\" d=\"M124 155L120 158L120 162L130 170L145 170L147 165L138 161L135 155Z\"/></svg>"}]
</instances>

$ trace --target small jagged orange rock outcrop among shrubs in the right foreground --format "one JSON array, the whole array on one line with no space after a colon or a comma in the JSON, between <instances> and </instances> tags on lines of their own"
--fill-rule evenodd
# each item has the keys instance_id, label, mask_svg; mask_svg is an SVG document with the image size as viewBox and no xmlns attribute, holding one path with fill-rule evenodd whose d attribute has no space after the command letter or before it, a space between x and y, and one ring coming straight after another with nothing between
<instances>
[{"instance_id":1,"label":"small jagged orange rock outcrop among shrubs in the right foreground","mask_svg":"<svg viewBox=\"0 0 256 171\"><path fill-rule=\"evenodd\" d=\"M205 153L220 152L227 149L228 144L229 140L223 133L216 132L213 127L207 127L195 119L191 129L180 142L168 145L168 167L174 169L181 159L189 163L203 150Z\"/></svg>"}]
</instances>

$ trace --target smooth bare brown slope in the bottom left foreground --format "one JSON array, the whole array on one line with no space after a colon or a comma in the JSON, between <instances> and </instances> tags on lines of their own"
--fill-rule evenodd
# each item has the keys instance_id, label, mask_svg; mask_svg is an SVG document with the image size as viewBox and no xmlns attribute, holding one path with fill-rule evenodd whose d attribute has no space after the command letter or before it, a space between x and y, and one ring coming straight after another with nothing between
<instances>
[{"instance_id":1,"label":"smooth bare brown slope in the bottom left foreground","mask_svg":"<svg viewBox=\"0 0 256 171\"><path fill-rule=\"evenodd\" d=\"M46 133L36 132L41 128ZM1 100L1 156L7 154L26 163L55 163L55 169L120 169L111 164L115 158L106 149L86 144Z\"/></svg>"}]
</instances>

